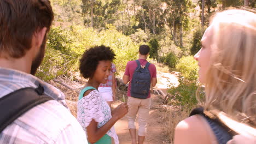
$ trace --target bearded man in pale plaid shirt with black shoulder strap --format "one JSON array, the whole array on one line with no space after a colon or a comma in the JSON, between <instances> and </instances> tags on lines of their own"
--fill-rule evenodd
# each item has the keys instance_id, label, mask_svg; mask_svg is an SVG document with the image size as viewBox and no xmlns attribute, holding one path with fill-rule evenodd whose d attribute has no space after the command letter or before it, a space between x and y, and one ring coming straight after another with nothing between
<instances>
[{"instance_id":1,"label":"bearded man in pale plaid shirt with black shoulder strap","mask_svg":"<svg viewBox=\"0 0 256 144\"><path fill-rule=\"evenodd\" d=\"M0 107L6 106L0 108L0 119L5 111L14 109L16 102L26 101L19 89L40 89L52 99L5 124L0 143L87 143L84 130L67 108L65 95L34 76L44 57L53 17L48 0L0 1ZM15 105L7 104L16 91Z\"/></svg>"}]
</instances>

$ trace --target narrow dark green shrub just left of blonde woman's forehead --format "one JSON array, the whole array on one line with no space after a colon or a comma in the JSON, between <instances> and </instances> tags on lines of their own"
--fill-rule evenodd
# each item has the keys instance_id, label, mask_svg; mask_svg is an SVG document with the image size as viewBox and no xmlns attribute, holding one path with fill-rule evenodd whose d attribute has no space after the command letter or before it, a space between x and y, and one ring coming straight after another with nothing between
<instances>
[{"instance_id":1,"label":"narrow dark green shrub just left of blonde woman's forehead","mask_svg":"<svg viewBox=\"0 0 256 144\"><path fill-rule=\"evenodd\" d=\"M193 34L192 47L190 48L191 55L195 55L201 49L201 39L203 33L205 33L205 29L206 27L198 27L197 29L195 29L195 32Z\"/></svg>"}]
</instances>

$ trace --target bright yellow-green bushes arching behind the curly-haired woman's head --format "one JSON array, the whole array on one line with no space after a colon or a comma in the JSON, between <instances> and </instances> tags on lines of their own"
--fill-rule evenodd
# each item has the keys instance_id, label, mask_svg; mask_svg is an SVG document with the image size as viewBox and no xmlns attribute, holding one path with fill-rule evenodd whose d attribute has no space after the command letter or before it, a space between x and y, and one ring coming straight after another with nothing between
<instances>
[{"instance_id":1,"label":"bright yellow-green bushes arching behind the curly-haired woman's head","mask_svg":"<svg viewBox=\"0 0 256 144\"><path fill-rule=\"evenodd\" d=\"M114 63L118 71L123 71L126 63L138 56L138 45L111 25L101 32L82 26L71 26L69 29L52 27L37 76L45 81L59 75L72 78L72 72L78 71L79 58L84 51L102 44L111 47L117 55Z\"/></svg>"}]
</instances>

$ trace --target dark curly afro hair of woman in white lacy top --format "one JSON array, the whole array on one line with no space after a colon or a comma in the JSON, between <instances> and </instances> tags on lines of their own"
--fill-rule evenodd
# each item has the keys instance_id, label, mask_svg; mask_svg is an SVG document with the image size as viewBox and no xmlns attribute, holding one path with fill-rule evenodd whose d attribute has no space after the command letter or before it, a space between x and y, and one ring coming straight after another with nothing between
<instances>
[{"instance_id":1,"label":"dark curly afro hair of woman in white lacy top","mask_svg":"<svg viewBox=\"0 0 256 144\"><path fill-rule=\"evenodd\" d=\"M94 76L99 61L113 61L115 53L104 45L91 47L80 59L79 70L85 79Z\"/></svg>"}]
</instances>

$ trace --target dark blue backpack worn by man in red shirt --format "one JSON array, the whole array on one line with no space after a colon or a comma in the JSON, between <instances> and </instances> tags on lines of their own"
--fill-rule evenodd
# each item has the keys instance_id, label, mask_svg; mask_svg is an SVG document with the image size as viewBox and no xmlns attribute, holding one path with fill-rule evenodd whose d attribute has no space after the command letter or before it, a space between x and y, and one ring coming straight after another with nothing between
<instances>
[{"instance_id":1,"label":"dark blue backpack worn by man in red shirt","mask_svg":"<svg viewBox=\"0 0 256 144\"><path fill-rule=\"evenodd\" d=\"M151 76L149 73L149 65L147 62L146 66L141 66L138 60L136 60L137 68L135 69L132 81L131 81L131 97L146 99L148 97Z\"/></svg>"}]
</instances>

